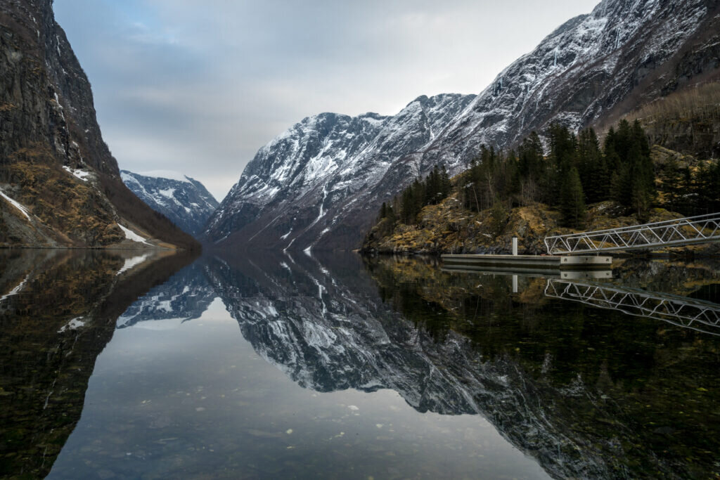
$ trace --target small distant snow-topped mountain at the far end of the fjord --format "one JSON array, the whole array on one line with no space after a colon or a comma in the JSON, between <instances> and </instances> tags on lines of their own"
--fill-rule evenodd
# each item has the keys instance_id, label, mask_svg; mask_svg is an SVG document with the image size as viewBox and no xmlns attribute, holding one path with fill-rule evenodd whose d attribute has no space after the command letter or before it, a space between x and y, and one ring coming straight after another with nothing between
<instances>
[{"instance_id":1,"label":"small distant snow-topped mountain at the far end of the fjord","mask_svg":"<svg viewBox=\"0 0 720 480\"><path fill-rule=\"evenodd\" d=\"M190 235L199 235L217 208L217 200L194 178L172 171L120 171L128 189L150 208Z\"/></svg>"}]
</instances>

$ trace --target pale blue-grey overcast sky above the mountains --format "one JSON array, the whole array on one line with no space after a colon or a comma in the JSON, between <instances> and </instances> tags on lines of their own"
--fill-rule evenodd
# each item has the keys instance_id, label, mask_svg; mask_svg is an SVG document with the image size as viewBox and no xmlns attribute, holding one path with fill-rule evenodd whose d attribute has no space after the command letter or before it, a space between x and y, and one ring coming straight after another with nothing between
<instances>
[{"instance_id":1,"label":"pale blue-grey overcast sky above the mountains","mask_svg":"<svg viewBox=\"0 0 720 480\"><path fill-rule=\"evenodd\" d=\"M120 168L179 171L222 200L302 118L480 93L598 1L55 0L55 17Z\"/></svg>"}]
</instances>

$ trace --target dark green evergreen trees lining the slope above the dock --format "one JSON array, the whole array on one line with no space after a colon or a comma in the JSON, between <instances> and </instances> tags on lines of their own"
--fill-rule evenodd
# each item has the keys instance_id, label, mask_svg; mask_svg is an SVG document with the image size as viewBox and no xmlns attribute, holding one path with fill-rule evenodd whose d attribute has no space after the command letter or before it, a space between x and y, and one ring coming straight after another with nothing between
<instances>
[{"instance_id":1,"label":"dark green evergreen trees lining the slope above the dock","mask_svg":"<svg viewBox=\"0 0 720 480\"><path fill-rule=\"evenodd\" d=\"M592 128L575 135L553 124L547 138L547 152L536 132L507 153L483 145L453 181L444 166L436 166L392 204L383 203L379 219L417 225L423 207L452 193L471 212L491 209L498 222L509 208L544 203L559 210L562 225L572 228L584 226L587 204L607 200L639 221L647 220L656 206L685 215L720 211L720 163L681 166L671 158L654 166L647 135L637 120L621 120L611 127L602 145Z\"/></svg>"}]
</instances>

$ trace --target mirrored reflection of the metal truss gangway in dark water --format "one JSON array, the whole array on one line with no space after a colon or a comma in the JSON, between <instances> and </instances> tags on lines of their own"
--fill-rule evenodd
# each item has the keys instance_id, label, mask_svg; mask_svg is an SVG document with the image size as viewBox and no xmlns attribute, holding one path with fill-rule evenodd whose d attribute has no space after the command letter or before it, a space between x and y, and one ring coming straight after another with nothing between
<instances>
[{"instance_id":1,"label":"mirrored reflection of the metal truss gangway in dark water","mask_svg":"<svg viewBox=\"0 0 720 480\"><path fill-rule=\"evenodd\" d=\"M720 305L687 296L562 279L548 279L545 295L720 336Z\"/></svg>"}]
</instances>

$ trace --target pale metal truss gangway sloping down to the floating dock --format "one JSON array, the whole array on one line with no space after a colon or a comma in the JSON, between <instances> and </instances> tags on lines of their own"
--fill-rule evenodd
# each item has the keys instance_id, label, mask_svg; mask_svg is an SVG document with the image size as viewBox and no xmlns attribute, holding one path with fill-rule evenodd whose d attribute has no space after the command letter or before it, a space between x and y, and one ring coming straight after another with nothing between
<instances>
[{"instance_id":1,"label":"pale metal truss gangway sloping down to the floating dock","mask_svg":"<svg viewBox=\"0 0 720 480\"><path fill-rule=\"evenodd\" d=\"M550 255L588 255L693 245L720 240L720 213L684 217L631 227L545 237Z\"/></svg>"}]
</instances>

